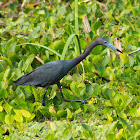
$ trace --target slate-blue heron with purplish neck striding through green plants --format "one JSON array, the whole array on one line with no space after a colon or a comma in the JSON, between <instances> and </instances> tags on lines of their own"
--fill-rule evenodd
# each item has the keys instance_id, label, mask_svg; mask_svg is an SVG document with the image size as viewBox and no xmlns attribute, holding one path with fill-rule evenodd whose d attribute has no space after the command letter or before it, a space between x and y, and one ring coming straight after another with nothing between
<instances>
[{"instance_id":1,"label":"slate-blue heron with purplish neck striding through green plants","mask_svg":"<svg viewBox=\"0 0 140 140\"><path fill-rule=\"evenodd\" d=\"M45 87L45 94L43 96L42 105L45 106L45 96L47 93L47 89L50 85L57 84L58 88L60 89L62 98L66 102L76 101L81 103L87 103L87 100L70 100L65 99L62 93L62 87L60 85L60 80L78 63L80 63L83 59L85 59L91 50L96 47L97 45L103 45L109 47L113 50L119 51L116 47L111 45L105 38L98 38L94 42L92 42L85 51L78 57L70 60L58 60L46 63L35 70L27 73L14 81L15 85L31 85L37 87ZM121 52L122 53L122 52Z\"/></svg>"}]
</instances>

